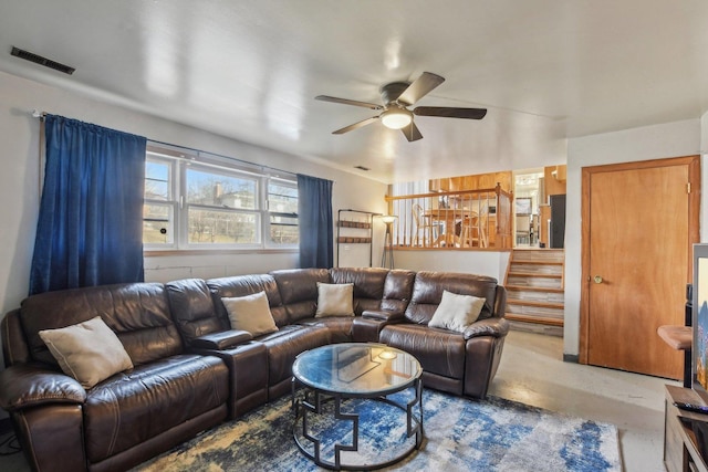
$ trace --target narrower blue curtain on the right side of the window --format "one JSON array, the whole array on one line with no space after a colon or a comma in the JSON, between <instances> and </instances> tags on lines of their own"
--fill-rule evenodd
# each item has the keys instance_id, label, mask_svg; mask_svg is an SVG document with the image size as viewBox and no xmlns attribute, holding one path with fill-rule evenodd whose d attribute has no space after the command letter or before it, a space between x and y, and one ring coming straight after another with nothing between
<instances>
[{"instance_id":1,"label":"narrower blue curtain on the right side of the window","mask_svg":"<svg viewBox=\"0 0 708 472\"><path fill-rule=\"evenodd\" d=\"M334 263L332 183L298 174L300 268L330 269Z\"/></svg>"}]
</instances>

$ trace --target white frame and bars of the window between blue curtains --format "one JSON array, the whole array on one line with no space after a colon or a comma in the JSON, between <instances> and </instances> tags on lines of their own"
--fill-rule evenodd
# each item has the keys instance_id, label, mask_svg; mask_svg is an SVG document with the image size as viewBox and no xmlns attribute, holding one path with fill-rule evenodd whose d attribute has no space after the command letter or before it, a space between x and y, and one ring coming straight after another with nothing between
<instances>
[{"instance_id":1,"label":"white frame and bars of the window between blue curtains","mask_svg":"<svg viewBox=\"0 0 708 472\"><path fill-rule=\"evenodd\" d=\"M271 179L277 179L279 183L298 188L298 182L292 178L282 177L280 174L268 172L257 165L237 161L235 159L221 156L202 155L197 151L188 151L178 149L163 149L162 146L150 146L148 144L147 161L156 161L168 164L170 178L170 199L153 200L145 199L146 204L170 206L173 211L174 228L168 229L173 232L171 243L144 243L144 251L283 251L298 249L296 243L277 243L271 241L268 189ZM253 209L238 208L220 208L210 204L199 204L189 202L187 199L187 169L194 168L199 171L206 171L215 175L223 175L225 177L253 180L256 182L256 196ZM218 211L227 211L243 214L253 214L256 217L256 242L253 243L190 243L189 242L189 210L190 209L210 209ZM294 218L298 214L294 213Z\"/></svg>"}]
</instances>

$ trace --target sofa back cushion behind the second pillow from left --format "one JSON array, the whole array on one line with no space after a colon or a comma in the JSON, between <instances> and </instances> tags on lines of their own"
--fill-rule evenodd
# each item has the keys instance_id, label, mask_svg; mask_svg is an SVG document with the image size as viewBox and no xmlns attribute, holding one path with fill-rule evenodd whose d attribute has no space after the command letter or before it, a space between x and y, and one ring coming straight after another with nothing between
<instances>
[{"instance_id":1,"label":"sofa back cushion behind the second pillow from left","mask_svg":"<svg viewBox=\"0 0 708 472\"><path fill-rule=\"evenodd\" d=\"M210 279L207 281L207 285L211 291L211 298L217 315L225 321L228 329L231 328L229 314L221 298L253 295L259 292L266 292L270 313L273 315L275 326L281 327L289 323L288 314L285 313L278 285L275 284L275 279L269 274L233 275L229 277Z\"/></svg>"}]
</instances>

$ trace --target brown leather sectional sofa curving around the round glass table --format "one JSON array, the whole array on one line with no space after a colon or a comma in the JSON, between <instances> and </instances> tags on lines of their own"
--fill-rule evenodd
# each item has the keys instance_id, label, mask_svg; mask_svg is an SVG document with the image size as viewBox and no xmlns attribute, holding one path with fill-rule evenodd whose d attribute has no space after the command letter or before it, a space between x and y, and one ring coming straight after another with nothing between
<instances>
[{"instance_id":1,"label":"brown leather sectional sofa curving around the round glass table","mask_svg":"<svg viewBox=\"0 0 708 472\"><path fill-rule=\"evenodd\" d=\"M353 283L355 316L315 318L317 282ZM442 291L485 297L465 333L427 326ZM221 297L264 291L279 331L232 331ZM300 353L381 342L414 354L424 385L483 398L508 323L506 291L487 276L386 269L303 269L167 284L136 283L30 296L0 326L7 368L0 407L42 471L114 471L160 453L290 391ZM95 316L134 368L85 390L38 335Z\"/></svg>"}]
</instances>

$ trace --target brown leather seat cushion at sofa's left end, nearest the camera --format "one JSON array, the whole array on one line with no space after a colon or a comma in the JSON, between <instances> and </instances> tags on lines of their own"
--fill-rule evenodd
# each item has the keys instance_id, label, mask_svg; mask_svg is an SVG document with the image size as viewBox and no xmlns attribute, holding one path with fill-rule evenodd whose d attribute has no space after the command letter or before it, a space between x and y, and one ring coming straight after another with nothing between
<instances>
[{"instance_id":1,"label":"brown leather seat cushion at sofa's left end, nearest the camera","mask_svg":"<svg viewBox=\"0 0 708 472\"><path fill-rule=\"evenodd\" d=\"M229 371L217 357L177 355L115 375L86 396L88 462L155 438L228 398Z\"/></svg>"}]
</instances>

